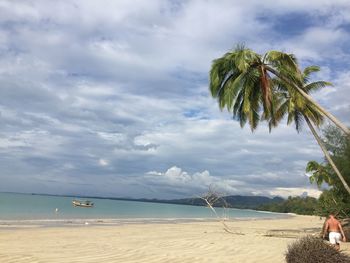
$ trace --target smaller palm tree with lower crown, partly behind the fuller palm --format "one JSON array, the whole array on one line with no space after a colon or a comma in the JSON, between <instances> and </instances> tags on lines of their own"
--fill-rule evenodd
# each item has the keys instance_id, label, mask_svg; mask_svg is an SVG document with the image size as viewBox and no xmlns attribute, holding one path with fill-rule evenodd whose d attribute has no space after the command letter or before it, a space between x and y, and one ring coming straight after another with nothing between
<instances>
[{"instance_id":1,"label":"smaller palm tree with lower crown, partly behind the fuller palm","mask_svg":"<svg viewBox=\"0 0 350 263\"><path fill-rule=\"evenodd\" d=\"M306 93L318 90L320 88L332 85L326 81L316 81L309 83L309 78L311 73L318 72L320 68L318 66L310 66L304 69L302 73L303 80L303 90ZM299 93L291 94L289 91L290 87L285 85L284 82L279 79L275 79L275 96L276 98L276 111L269 116L265 116L266 119L269 120L269 127L276 127L278 123L284 118L285 114L287 116L287 123L290 124L292 121L295 123L295 128L298 132L300 132L302 127L302 121L305 120L307 125L309 126L312 134L314 135L318 145L322 149L328 163L333 168L336 175L339 177L345 189L350 194L350 187L345 181L344 177L339 172L339 169L334 164L329 152L326 149L322 139L317 134L317 131L314 128L319 127L323 123L323 116L320 114L319 110L313 104L305 103L304 97L302 97ZM304 101L303 101L304 100ZM321 177L319 178L321 179Z\"/></svg>"}]
</instances>

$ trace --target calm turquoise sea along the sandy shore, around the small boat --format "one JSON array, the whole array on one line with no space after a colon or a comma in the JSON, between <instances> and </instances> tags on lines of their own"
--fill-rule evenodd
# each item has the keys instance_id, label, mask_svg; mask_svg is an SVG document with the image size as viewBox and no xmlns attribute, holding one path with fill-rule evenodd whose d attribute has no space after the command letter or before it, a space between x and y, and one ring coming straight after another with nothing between
<instances>
[{"instance_id":1,"label":"calm turquoise sea along the sandy shore, around the small boat","mask_svg":"<svg viewBox=\"0 0 350 263\"><path fill-rule=\"evenodd\" d=\"M74 207L73 197L0 193L0 225L11 224L123 224L195 220L248 220L283 218L286 214L248 209L89 198L92 208Z\"/></svg>"}]
</instances>

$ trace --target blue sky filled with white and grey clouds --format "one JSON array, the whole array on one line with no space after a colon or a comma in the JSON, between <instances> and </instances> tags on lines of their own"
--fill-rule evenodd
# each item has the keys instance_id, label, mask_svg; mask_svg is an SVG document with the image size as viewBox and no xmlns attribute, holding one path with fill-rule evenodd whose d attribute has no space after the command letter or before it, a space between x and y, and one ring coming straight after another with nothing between
<instances>
[{"instance_id":1,"label":"blue sky filled with white and grey clouds","mask_svg":"<svg viewBox=\"0 0 350 263\"><path fill-rule=\"evenodd\" d=\"M181 198L318 196L304 125L253 133L220 111L211 63L293 53L350 125L347 0L0 0L0 191Z\"/></svg>"}]
</instances>

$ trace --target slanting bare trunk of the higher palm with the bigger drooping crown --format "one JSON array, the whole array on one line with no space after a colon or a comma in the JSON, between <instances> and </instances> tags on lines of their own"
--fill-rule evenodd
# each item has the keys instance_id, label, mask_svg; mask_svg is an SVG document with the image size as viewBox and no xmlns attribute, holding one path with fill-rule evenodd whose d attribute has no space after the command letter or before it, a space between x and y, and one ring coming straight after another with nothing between
<instances>
[{"instance_id":1,"label":"slanting bare trunk of the higher palm with the bigger drooping crown","mask_svg":"<svg viewBox=\"0 0 350 263\"><path fill-rule=\"evenodd\" d=\"M303 91L301 88L299 88L295 83L290 81L288 78L280 75L276 70L269 66L265 66L268 71L270 71L272 74L276 75L281 80L285 81L289 85L293 86L297 91L304 96L306 100L314 104L317 109L322 112L326 117L328 117L335 125L337 125L340 129L342 129L345 134L350 135L350 130L348 127L346 127L341 121L339 121L335 116L333 116L330 112L326 111L320 104L318 104L309 94L307 94L305 91Z\"/></svg>"}]
</instances>

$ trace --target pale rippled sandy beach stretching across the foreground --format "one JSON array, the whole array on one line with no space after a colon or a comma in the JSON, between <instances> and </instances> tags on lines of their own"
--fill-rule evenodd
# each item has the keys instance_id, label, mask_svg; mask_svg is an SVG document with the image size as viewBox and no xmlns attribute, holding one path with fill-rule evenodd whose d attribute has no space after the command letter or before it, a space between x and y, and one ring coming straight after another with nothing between
<instances>
[{"instance_id":1,"label":"pale rippled sandy beach stretching across the foreground","mask_svg":"<svg viewBox=\"0 0 350 263\"><path fill-rule=\"evenodd\" d=\"M288 244L318 234L313 216L227 222L0 228L0 262L284 262ZM342 249L350 251L349 243Z\"/></svg>"}]
</instances>

